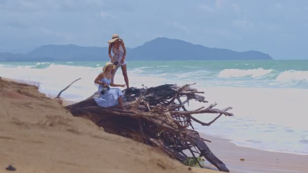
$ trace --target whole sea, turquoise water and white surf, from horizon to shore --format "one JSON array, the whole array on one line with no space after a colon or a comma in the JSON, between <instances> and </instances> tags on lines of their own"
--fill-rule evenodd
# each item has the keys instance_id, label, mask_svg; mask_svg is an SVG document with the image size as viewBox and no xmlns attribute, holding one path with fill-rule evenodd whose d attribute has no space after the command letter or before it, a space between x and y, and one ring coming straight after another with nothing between
<instances>
[{"instance_id":1,"label":"whole sea, turquoise water and white surf, from horizon to shore","mask_svg":"<svg viewBox=\"0 0 308 173\"><path fill-rule=\"evenodd\" d=\"M81 101L97 86L95 77L105 61L0 62L0 76L38 81L40 92ZM308 154L308 60L254 61L128 61L130 86L194 83L208 104L233 107L233 117L220 117L211 126L194 123L201 133L229 139L239 146L267 151ZM124 84L121 69L115 83ZM207 106L208 104L205 104ZM190 102L188 109L204 104ZM195 115L204 122L216 115Z\"/></svg>"}]
</instances>

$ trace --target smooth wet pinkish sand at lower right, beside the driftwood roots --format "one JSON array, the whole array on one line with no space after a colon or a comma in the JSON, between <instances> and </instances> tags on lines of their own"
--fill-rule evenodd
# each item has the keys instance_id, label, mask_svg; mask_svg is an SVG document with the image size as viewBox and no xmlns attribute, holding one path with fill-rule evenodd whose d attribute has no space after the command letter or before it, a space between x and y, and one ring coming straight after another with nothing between
<instances>
[{"instance_id":1,"label":"smooth wet pinkish sand at lower right, beside the driftwood roots","mask_svg":"<svg viewBox=\"0 0 308 173\"><path fill-rule=\"evenodd\" d=\"M308 172L308 155L241 147L227 139L201 133L200 136L212 141L206 144L230 172Z\"/></svg>"}]
</instances>

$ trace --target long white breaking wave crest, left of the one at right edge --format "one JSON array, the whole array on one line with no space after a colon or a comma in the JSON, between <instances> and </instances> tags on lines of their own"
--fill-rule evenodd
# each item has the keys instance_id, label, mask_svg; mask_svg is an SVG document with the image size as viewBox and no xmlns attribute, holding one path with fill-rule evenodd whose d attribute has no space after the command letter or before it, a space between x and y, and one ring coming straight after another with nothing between
<instances>
[{"instance_id":1,"label":"long white breaking wave crest, left of the one at right edge","mask_svg":"<svg viewBox=\"0 0 308 173\"><path fill-rule=\"evenodd\" d=\"M273 69L224 69L219 72L218 77L226 78L226 77L260 77L269 73L272 73Z\"/></svg>"}]
</instances>

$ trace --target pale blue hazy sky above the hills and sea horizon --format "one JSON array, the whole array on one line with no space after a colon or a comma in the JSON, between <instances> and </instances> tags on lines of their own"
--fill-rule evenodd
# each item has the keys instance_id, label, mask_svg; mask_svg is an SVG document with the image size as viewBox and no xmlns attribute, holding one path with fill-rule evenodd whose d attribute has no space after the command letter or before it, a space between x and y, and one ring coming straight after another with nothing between
<instances>
[{"instance_id":1,"label":"pale blue hazy sky above the hills and sea horizon","mask_svg":"<svg viewBox=\"0 0 308 173\"><path fill-rule=\"evenodd\" d=\"M134 48L156 37L308 59L308 1L0 0L0 52L42 45Z\"/></svg>"}]
</instances>

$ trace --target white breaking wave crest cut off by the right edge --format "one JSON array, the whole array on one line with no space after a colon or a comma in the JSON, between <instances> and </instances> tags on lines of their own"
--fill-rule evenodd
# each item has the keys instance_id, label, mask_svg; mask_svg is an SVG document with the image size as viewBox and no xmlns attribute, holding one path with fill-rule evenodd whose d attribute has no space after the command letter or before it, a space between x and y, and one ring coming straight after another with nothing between
<instances>
[{"instance_id":1,"label":"white breaking wave crest cut off by the right edge","mask_svg":"<svg viewBox=\"0 0 308 173\"><path fill-rule=\"evenodd\" d=\"M277 81L307 81L308 82L308 71L295 71L288 70L279 74L276 78Z\"/></svg>"}]
</instances>

